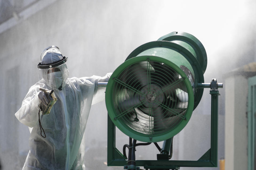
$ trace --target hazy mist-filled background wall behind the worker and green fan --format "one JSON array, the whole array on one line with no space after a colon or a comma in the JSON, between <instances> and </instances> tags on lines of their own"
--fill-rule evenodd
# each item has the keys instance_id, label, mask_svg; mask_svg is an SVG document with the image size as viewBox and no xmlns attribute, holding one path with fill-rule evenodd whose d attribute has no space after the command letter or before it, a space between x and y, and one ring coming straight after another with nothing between
<instances>
[{"instance_id":1,"label":"hazy mist-filled background wall behind the worker and green fan","mask_svg":"<svg viewBox=\"0 0 256 170\"><path fill-rule=\"evenodd\" d=\"M206 49L205 82L212 78L223 82L224 73L255 61L255 7L253 0L0 0L2 169L21 169L29 151L29 130L14 114L30 86L39 81L37 63L46 47L56 45L69 57L69 77L104 76L143 43L183 31L197 37ZM225 157L225 88L219 90L219 159ZM106 123L105 102L93 105L85 132L87 169L123 169L106 165ZM117 130L120 151L128 139ZM149 148L137 147L136 158L156 159L157 149ZM198 160L209 148L210 95L205 89L191 120L174 137L172 160Z\"/></svg>"}]
</instances>

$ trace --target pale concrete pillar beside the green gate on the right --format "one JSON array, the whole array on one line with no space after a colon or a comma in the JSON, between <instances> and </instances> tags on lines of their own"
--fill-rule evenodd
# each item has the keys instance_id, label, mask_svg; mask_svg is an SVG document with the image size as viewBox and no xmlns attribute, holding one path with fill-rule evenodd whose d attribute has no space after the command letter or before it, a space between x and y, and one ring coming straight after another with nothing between
<instances>
[{"instance_id":1,"label":"pale concrete pillar beside the green gate on the right","mask_svg":"<svg viewBox=\"0 0 256 170\"><path fill-rule=\"evenodd\" d=\"M225 87L225 169L247 169L248 80L230 76Z\"/></svg>"}]
</instances>

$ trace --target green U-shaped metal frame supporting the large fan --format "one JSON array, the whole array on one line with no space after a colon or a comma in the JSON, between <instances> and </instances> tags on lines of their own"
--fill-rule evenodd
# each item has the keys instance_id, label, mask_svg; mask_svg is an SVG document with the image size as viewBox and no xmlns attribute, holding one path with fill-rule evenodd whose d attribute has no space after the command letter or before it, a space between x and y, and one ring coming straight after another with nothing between
<instances>
[{"instance_id":1,"label":"green U-shaped metal frame supporting the large fan","mask_svg":"<svg viewBox=\"0 0 256 170\"><path fill-rule=\"evenodd\" d=\"M179 167L218 166L218 90L210 90L211 95L211 148L197 161L191 160L136 160L136 166L147 169L178 169ZM128 165L126 158L115 147L115 125L108 116L107 165Z\"/></svg>"}]
</instances>

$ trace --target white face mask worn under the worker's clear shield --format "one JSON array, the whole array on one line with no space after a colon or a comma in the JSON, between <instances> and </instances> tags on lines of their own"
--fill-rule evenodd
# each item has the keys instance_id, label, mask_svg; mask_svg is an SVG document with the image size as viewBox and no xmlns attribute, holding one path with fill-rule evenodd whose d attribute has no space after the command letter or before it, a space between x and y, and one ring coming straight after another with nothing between
<instances>
[{"instance_id":1,"label":"white face mask worn under the worker's clear shield","mask_svg":"<svg viewBox=\"0 0 256 170\"><path fill-rule=\"evenodd\" d=\"M63 83L63 76L61 71L48 73L47 80L48 80L48 83L47 83L48 86L50 86L53 89L59 89L60 87L62 87L62 83Z\"/></svg>"}]
</instances>

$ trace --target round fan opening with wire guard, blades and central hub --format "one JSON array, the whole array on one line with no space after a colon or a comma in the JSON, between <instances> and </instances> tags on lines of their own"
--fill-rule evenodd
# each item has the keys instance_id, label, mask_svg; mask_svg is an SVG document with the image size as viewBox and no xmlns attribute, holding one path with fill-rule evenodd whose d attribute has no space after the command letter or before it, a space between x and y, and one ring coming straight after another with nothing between
<instances>
[{"instance_id":1,"label":"round fan opening with wire guard, blades and central hub","mask_svg":"<svg viewBox=\"0 0 256 170\"><path fill-rule=\"evenodd\" d=\"M184 74L150 57L134 62L112 79L115 113L111 119L146 137L137 139L141 141L152 142L155 136L173 131L190 118L186 79Z\"/></svg>"}]
</instances>

